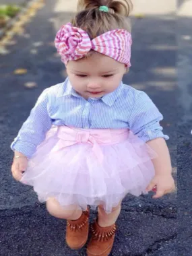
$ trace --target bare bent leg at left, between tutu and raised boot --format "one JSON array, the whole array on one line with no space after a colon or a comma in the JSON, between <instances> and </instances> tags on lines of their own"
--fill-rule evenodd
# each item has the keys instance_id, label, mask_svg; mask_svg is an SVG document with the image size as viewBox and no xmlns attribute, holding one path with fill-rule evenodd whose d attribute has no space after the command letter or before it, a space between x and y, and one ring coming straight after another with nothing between
<instances>
[{"instance_id":1,"label":"bare bent leg at left, between tutu and raised boot","mask_svg":"<svg viewBox=\"0 0 192 256\"><path fill-rule=\"evenodd\" d=\"M46 209L49 214L59 219L78 220L82 216L82 210L78 205L62 207L54 197L46 201Z\"/></svg>"}]
</instances>

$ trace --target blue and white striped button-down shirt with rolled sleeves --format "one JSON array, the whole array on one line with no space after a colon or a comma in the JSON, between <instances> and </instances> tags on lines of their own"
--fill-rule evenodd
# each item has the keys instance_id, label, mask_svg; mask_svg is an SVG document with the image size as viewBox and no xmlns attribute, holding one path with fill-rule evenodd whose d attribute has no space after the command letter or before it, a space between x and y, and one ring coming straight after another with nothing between
<instances>
[{"instance_id":1,"label":"blue and white striped button-down shirt with rolled sleeves","mask_svg":"<svg viewBox=\"0 0 192 256\"><path fill-rule=\"evenodd\" d=\"M159 123L162 119L146 93L123 83L102 98L85 100L66 79L42 92L11 148L30 158L52 125L84 129L128 128L143 141L157 137L168 139L162 133Z\"/></svg>"}]
</instances>

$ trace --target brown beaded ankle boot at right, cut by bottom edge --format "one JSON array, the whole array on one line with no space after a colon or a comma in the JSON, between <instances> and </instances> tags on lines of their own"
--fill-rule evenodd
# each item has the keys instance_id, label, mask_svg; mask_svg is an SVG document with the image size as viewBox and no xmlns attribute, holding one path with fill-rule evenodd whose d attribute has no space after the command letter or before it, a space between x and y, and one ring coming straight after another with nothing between
<instances>
[{"instance_id":1,"label":"brown beaded ankle boot at right, cut by bottom edge","mask_svg":"<svg viewBox=\"0 0 192 256\"><path fill-rule=\"evenodd\" d=\"M88 244L88 256L108 256L113 248L116 225L101 228L97 222L91 226L92 238Z\"/></svg>"}]
</instances>

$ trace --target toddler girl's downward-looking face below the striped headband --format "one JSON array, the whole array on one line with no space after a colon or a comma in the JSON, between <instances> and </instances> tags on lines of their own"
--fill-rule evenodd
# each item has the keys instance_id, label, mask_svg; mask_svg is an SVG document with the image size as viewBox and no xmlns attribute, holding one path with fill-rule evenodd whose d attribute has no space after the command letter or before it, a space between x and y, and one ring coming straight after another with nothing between
<instances>
[{"instance_id":1,"label":"toddler girl's downward-looking face below the striped headband","mask_svg":"<svg viewBox=\"0 0 192 256\"><path fill-rule=\"evenodd\" d=\"M71 86L86 99L100 98L115 91L125 72L124 64L100 53L67 64Z\"/></svg>"}]
</instances>

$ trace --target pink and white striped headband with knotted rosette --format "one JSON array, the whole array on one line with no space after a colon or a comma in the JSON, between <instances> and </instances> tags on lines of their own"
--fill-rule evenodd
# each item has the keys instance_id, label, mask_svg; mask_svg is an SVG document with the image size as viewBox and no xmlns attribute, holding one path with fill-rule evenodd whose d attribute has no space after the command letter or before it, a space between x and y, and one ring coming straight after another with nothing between
<instances>
[{"instance_id":1,"label":"pink and white striped headband with knotted rosette","mask_svg":"<svg viewBox=\"0 0 192 256\"><path fill-rule=\"evenodd\" d=\"M55 46L65 65L93 50L131 67L131 44L131 34L126 30L111 30L91 40L86 31L71 23L62 26L55 38Z\"/></svg>"}]
</instances>

